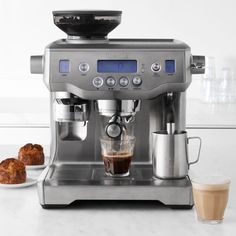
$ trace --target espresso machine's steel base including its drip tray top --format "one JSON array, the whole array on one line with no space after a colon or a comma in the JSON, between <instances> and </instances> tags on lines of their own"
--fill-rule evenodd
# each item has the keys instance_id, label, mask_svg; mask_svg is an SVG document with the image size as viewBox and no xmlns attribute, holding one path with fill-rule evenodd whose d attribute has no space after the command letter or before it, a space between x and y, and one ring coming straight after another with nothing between
<instances>
[{"instance_id":1,"label":"espresso machine's steel base including its drip tray top","mask_svg":"<svg viewBox=\"0 0 236 236\"><path fill-rule=\"evenodd\" d=\"M153 177L151 164L133 164L128 177L104 175L103 164L51 165L38 182L43 208L63 208L85 200L156 201L172 209L191 209L188 177L162 180Z\"/></svg>"}]
</instances>

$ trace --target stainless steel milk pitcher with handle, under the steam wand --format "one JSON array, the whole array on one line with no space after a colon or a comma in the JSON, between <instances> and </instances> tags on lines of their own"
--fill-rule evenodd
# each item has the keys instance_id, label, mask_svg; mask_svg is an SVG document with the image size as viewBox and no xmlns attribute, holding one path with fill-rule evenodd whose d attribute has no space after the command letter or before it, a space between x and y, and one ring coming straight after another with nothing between
<instances>
[{"instance_id":1,"label":"stainless steel milk pitcher with handle, under the steam wand","mask_svg":"<svg viewBox=\"0 0 236 236\"><path fill-rule=\"evenodd\" d=\"M188 143L191 139L199 140L197 159L189 161ZM152 134L153 174L161 179L180 179L188 175L189 166L198 162L201 151L200 137L187 137L187 132Z\"/></svg>"}]
</instances>

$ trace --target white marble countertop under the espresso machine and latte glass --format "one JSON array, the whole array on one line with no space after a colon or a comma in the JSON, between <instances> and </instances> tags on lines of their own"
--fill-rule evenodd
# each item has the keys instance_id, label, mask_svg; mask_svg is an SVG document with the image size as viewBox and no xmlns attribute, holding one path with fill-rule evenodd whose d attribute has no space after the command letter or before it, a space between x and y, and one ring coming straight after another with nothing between
<instances>
[{"instance_id":1,"label":"white marble countertop under the espresso machine and latte glass","mask_svg":"<svg viewBox=\"0 0 236 236\"><path fill-rule=\"evenodd\" d=\"M200 136L204 140L201 160L191 170L197 174L221 173L232 180L229 203L222 224L198 223L194 209L172 210L156 202L93 201L65 209L45 210L38 203L36 186L31 186L22 189L0 188L0 236L234 235L236 130L188 132L190 136ZM1 158L14 156L19 147L20 145L0 145ZM48 153L48 147L45 147ZM32 178L37 178L40 173L40 170L27 172Z\"/></svg>"}]
</instances>

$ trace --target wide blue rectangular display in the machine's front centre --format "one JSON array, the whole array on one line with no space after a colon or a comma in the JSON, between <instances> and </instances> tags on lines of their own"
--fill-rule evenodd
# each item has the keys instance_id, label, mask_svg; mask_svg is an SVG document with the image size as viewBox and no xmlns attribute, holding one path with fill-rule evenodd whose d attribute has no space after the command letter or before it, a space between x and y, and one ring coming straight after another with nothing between
<instances>
[{"instance_id":1,"label":"wide blue rectangular display in the machine's front centre","mask_svg":"<svg viewBox=\"0 0 236 236\"><path fill-rule=\"evenodd\" d=\"M136 60L98 60L98 73L136 73Z\"/></svg>"}]
</instances>

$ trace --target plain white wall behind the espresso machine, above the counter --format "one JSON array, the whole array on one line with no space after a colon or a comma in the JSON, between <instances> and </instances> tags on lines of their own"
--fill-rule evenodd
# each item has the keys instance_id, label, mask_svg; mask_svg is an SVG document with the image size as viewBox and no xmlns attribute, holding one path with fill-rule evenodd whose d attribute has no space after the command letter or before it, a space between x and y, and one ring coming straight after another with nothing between
<instances>
[{"instance_id":1,"label":"plain white wall behind the espresso machine, above the counter","mask_svg":"<svg viewBox=\"0 0 236 236\"><path fill-rule=\"evenodd\" d=\"M224 67L236 71L235 0L0 0L0 124L49 122L48 91L42 76L30 74L29 58L66 37L52 18L53 10L64 9L122 10L122 23L110 37L177 38L193 54L213 56L218 75ZM226 109L225 104L203 103L202 77L193 79L188 124L236 125L235 104Z\"/></svg>"}]
</instances>

